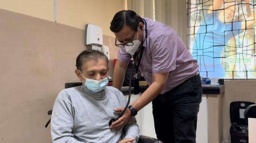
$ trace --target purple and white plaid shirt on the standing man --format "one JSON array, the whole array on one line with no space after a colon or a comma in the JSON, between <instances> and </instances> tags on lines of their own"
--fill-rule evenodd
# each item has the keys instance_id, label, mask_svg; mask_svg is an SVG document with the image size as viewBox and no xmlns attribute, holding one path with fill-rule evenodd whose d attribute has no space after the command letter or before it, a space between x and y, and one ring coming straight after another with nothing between
<instances>
[{"instance_id":1,"label":"purple and white plaid shirt on the standing man","mask_svg":"<svg viewBox=\"0 0 256 143\"><path fill-rule=\"evenodd\" d=\"M148 37L143 43L146 48L144 48L139 69L149 86L153 82L152 73L169 72L166 87L161 92L164 94L188 78L195 76L199 65L170 26L148 18L145 20ZM145 35L144 31L144 38ZM119 48L117 59L127 63L131 59L131 55L126 52L125 48Z\"/></svg>"}]
</instances>

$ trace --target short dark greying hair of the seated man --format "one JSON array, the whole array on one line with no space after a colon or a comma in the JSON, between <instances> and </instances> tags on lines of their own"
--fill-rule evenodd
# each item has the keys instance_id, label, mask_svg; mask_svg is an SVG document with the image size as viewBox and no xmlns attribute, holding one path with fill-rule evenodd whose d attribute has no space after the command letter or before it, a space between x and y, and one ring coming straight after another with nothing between
<instances>
[{"instance_id":1,"label":"short dark greying hair of the seated man","mask_svg":"<svg viewBox=\"0 0 256 143\"><path fill-rule=\"evenodd\" d=\"M84 50L76 58L76 68L82 72L82 67L88 60L94 60L98 62L99 58L103 58L108 66L108 58L105 54L97 50Z\"/></svg>"}]
</instances>

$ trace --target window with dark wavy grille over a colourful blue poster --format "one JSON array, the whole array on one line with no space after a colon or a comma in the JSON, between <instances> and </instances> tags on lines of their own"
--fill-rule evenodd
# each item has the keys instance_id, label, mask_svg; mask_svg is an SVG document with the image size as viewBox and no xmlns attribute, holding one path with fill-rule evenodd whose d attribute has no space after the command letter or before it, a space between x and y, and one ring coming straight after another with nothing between
<instances>
[{"instance_id":1,"label":"window with dark wavy grille over a colourful blue poster","mask_svg":"<svg viewBox=\"0 0 256 143\"><path fill-rule=\"evenodd\" d=\"M187 0L189 51L202 77L256 78L254 0Z\"/></svg>"}]
</instances>

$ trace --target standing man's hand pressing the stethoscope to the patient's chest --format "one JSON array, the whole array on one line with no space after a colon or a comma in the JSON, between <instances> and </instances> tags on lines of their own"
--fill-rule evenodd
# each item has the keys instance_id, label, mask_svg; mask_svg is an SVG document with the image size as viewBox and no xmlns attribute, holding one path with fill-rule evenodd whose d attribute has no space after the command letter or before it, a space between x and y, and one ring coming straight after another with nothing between
<instances>
[{"instance_id":1,"label":"standing man's hand pressing the stethoscope to the patient's chest","mask_svg":"<svg viewBox=\"0 0 256 143\"><path fill-rule=\"evenodd\" d=\"M116 112L121 112L124 110L124 107L121 108L115 108L114 109ZM129 119L131 118L131 110L128 108L125 110L123 115L115 122L113 122L110 126L111 130L119 130L121 129L124 125L126 125L129 122Z\"/></svg>"}]
</instances>

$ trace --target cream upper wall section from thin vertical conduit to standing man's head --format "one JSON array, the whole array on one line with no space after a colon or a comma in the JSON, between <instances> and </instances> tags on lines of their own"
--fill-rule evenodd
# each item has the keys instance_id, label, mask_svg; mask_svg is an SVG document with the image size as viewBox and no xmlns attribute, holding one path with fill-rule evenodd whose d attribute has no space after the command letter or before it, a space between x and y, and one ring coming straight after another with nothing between
<instances>
[{"instance_id":1,"label":"cream upper wall section from thin vertical conduit to standing man's head","mask_svg":"<svg viewBox=\"0 0 256 143\"><path fill-rule=\"evenodd\" d=\"M109 30L110 22L125 5L125 0L58 0L57 21L81 29L85 24L96 24L103 34L115 37Z\"/></svg>"}]
</instances>

